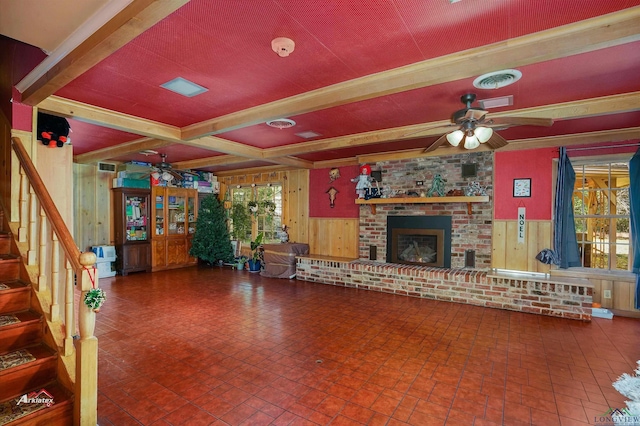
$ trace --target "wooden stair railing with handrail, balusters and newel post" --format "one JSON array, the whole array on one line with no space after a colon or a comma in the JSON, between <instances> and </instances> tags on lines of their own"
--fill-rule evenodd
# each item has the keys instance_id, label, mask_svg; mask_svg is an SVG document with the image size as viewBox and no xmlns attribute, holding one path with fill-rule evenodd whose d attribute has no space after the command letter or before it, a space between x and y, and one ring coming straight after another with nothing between
<instances>
[{"instance_id":1,"label":"wooden stair railing with handrail, balusters and newel post","mask_svg":"<svg viewBox=\"0 0 640 426\"><path fill-rule=\"evenodd\" d=\"M64 336L57 341L64 356L75 364L74 424L96 425L98 403L98 339L94 335L96 314L82 301L98 282L93 253L80 253L51 195L47 191L20 138L11 138L19 167L18 242L26 244L23 257L38 270L36 291L50 300L47 314L51 323L64 324ZM12 172L12 176L16 174ZM13 187L13 186L12 186ZM15 194L11 194L12 197ZM51 234L49 234L49 229ZM63 256L60 259L60 256ZM64 262L64 291L59 288L61 261ZM76 302L75 286L81 291ZM63 299L63 300L60 300ZM43 309L44 306L43 306ZM77 323L75 313L77 315ZM79 339L74 342L76 329ZM56 338L56 333L52 333ZM75 344L74 344L75 343ZM75 351L75 360L72 356ZM75 361L75 362L74 362Z\"/></svg>"}]
</instances>

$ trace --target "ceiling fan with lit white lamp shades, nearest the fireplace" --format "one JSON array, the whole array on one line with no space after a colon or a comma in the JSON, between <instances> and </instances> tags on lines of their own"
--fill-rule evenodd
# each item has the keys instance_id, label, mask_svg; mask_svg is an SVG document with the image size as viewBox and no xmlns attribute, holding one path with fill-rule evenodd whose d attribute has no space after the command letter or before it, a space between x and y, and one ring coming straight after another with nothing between
<instances>
[{"instance_id":1,"label":"ceiling fan with lit white lamp shades, nearest the fireplace","mask_svg":"<svg viewBox=\"0 0 640 426\"><path fill-rule=\"evenodd\" d=\"M447 127L457 127L456 130L447 132L438 138L424 152L436 150L444 142L452 146L462 146L465 149L475 149L480 144L486 143L491 149L498 149L508 144L507 140L495 133L493 129L506 129L513 126L551 126L550 118L533 117L496 117L488 118L489 111L472 107L476 95L467 93L460 97L460 101L466 108L458 110L451 116L451 124Z\"/></svg>"}]
</instances>

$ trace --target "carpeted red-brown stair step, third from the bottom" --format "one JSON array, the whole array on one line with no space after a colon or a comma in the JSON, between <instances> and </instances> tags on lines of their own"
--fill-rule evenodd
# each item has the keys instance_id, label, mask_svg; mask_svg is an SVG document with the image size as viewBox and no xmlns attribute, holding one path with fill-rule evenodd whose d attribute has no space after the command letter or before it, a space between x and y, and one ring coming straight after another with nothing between
<instances>
[{"instance_id":1,"label":"carpeted red-brown stair step, third from the bottom","mask_svg":"<svg viewBox=\"0 0 640 426\"><path fill-rule=\"evenodd\" d=\"M44 323L42 316L31 310L0 314L0 354L39 343Z\"/></svg>"}]
</instances>

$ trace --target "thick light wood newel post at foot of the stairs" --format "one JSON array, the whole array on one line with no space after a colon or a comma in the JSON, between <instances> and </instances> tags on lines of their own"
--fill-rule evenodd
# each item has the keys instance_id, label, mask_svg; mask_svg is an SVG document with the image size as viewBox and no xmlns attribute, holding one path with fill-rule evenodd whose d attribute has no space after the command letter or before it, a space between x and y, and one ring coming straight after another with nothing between
<instances>
[{"instance_id":1,"label":"thick light wood newel post at foot of the stairs","mask_svg":"<svg viewBox=\"0 0 640 426\"><path fill-rule=\"evenodd\" d=\"M92 252L81 253L79 257L83 269L78 275L82 294L78 314L80 339L76 342L75 425L95 426L98 423L98 338L93 335L96 314L84 304L87 291L97 285L96 259Z\"/></svg>"}]
</instances>

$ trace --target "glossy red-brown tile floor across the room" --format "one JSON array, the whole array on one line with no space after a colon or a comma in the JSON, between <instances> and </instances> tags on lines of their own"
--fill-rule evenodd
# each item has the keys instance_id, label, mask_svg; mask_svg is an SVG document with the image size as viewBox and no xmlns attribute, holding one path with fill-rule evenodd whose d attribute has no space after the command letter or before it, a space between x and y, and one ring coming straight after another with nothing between
<instances>
[{"instance_id":1,"label":"glossy red-brown tile floor across the room","mask_svg":"<svg viewBox=\"0 0 640 426\"><path fill-rule=\"evenodd\" d=\"M193 267L104 278L107 425L583 425L640 320L563 320Z\"/></svg>"}]
</instances>

